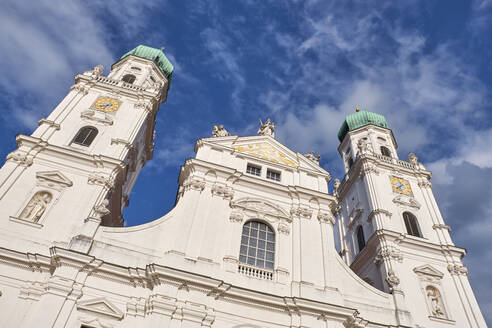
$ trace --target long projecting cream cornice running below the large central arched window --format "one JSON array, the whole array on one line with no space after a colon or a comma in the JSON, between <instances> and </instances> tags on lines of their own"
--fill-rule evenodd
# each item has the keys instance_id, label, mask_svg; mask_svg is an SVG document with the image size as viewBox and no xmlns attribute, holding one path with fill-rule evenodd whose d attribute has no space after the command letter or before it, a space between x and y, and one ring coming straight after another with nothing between
<instances>
[{"instance_id":1,"label":"long projecting cream cornice running below the large central arched window","mask_svg":"<svg viewBox=\"0 0 492 328\"><path fill-rule=\"evenodd\" d=\"M32 270L32 263L36 263L43 271L56 270L57 267L71 267L80 271L90 272L93 277L111 280L113 282L141 286L154 290L160 284L171 284L187 290L196 290L214 299L243 303L268 309L277 309L279 312L308 312L319 316L335 316L340 320L350 320L357 315L353 308L342 305L328 304L305 298L282 297L257 290L238 287L222 280L208 276L179 270L158 264L149 264L145 268L122 267L117 264L104 262L94 256L75 251L52 247L50 256L16 252L0 248L0 259L4 263L14 264L25 270ZM140 281L140 282L139 282ZM52 286L53 287L53 286ZM61 288L64 286L54 286ZM53 287L53 288L54 288ZM156 297L159 295L151 295ZM170 298L167 298L171 300Z\"/></svg>"}]
</instances>

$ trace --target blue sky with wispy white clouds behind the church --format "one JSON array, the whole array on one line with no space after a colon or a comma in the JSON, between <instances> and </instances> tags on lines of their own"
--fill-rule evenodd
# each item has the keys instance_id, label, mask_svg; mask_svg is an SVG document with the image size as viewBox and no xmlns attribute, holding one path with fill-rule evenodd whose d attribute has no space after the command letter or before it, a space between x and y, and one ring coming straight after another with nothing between
<instances>
[{"instance_id":1,"label":"blue sky with wispy white clouds behind the church","mask_svg":"<svg viewBox=\"0 0 492 328\"><path fill-rule=\"evenodd\" d=\"M128 225L169 211L185 158L214 124L321 153L342 177L336 133L354 105L384 114L400 158L414 151L492 325L492 1L4 1L0 157L65 96L73 76L104 74L138 44L175 66L157 116L154 159Z\"/></svg>"}]
</instances>

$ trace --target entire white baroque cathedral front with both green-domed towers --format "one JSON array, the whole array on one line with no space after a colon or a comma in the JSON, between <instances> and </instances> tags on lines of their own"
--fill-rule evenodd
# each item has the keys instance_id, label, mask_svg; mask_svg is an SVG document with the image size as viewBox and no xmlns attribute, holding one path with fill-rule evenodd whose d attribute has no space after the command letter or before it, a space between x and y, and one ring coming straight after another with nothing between
<instances>
[{"instance_id":1,"label":"entire white baroque cathedral front with both green-domed towers","mask_svg":"<svg viewBox=\"0 0 492 328\"><path fill-rule=\"evenodd\" d=\"M214 127L175 207L124 227L172 73L138 46L17 136L0 169L2 327L486 327L431 173L398 158L376 113L341 122L332 191L270 120L255 136Z\"/></svg>"}]
</instances>

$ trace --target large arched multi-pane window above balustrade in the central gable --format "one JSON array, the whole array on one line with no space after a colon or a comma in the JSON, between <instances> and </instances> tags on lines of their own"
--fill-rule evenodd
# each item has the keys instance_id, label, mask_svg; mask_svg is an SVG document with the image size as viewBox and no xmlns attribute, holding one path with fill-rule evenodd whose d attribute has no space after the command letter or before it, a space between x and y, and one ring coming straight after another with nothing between
<instances>
[{"instance_id":1,"label":"large arched multi-pane window above balustrade in the central gable","mask_svg":"<svg viewBox=\"0 0 492 328\"><path fill-rule=\"evenodd\" d=\"M239 261L273 270L275 233L262 222L248 221L243 226Z\"/></svg>"}]
</instances>

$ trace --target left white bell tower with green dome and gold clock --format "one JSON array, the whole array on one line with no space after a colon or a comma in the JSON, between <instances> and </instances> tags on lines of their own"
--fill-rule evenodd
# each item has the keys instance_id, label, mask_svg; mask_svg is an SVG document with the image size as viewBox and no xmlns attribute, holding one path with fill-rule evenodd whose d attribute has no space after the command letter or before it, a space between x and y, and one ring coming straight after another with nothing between
<instances>
[{"instance_id":1,"label":"left white bell tower with green dome and gold clock","mask_svg":"<svg viewBox=\"0 0 492 328\"><path fill-rule=\"evenodd\" d=\"M140 45L107 77L102 72L99 65L77 75L34 133L17 136L0 169L0 222L12 238L23 226L21 235L63 244L90 238L99 224L123 225L130 191L152 158L173 66L162 50Z\"/></svg>"}]
</instances>

